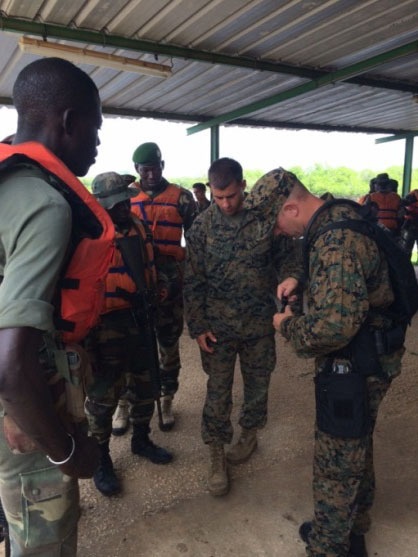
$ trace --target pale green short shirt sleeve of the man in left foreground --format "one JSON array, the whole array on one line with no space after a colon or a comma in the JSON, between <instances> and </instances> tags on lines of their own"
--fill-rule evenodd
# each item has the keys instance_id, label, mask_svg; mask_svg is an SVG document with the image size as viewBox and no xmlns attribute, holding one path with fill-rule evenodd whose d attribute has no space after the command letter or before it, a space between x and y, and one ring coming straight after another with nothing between
<instances>
[{"instance_id":1,"label":"pale green short shirt sleeve of the man in left foreground","mask_svg":"<svg viewBox=\"0 0 418 557\"><path fill-rule=\"evenodd\" d=\"M53 329L70 234L70 206L39 169L0 175L0 328Z\"/></svg>"}]
</instances>

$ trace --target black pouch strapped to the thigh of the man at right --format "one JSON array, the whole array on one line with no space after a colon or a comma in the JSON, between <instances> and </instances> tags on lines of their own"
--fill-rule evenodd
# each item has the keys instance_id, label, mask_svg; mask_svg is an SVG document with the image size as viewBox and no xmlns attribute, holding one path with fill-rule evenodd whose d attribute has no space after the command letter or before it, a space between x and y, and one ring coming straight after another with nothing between
<instances>
[{"instance_id":1,"label":"black pouch strapped to the thigh of the man at right","mask_svg":"<svg viewBox=\"0 0 418 557\"><path fill-rule=\"evenodd\" d=\"M318 429L333 437L358 439L370 427L367 379L360 373L319 373L315 377Z\"/></svg>"}]
</instances>

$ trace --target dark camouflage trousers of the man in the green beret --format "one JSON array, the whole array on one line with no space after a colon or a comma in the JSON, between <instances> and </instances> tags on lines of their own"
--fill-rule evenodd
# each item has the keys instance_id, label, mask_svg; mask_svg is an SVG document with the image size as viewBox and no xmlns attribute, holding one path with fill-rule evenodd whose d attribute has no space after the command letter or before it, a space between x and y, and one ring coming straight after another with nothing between
<instances>
[{"instance_id":1,"label":"dark camouflage trousers of the man in the green beret","mask_svg":"<svg viewBox=\"0 0 418 557\"><path fill-rule=\"evenodd\" d=\"M163 395L174 395L179 388L181 367L179 339L183 332L183 324L183 298L181 295L158 306L156 331Z\"/></svg>"}]
</instances>

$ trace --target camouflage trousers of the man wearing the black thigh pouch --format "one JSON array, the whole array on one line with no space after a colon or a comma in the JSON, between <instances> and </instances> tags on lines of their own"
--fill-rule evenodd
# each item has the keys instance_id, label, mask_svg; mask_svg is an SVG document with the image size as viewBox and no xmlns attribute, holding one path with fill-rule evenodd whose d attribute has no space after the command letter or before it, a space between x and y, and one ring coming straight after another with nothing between
<instances>
[{"instance_id":1,"label":"camouflage trousers of the man wearing the black thigh pouch","mask_svg":"<svg viewBox=\"0 0 418 557\"><path fill-rule=\"evenodd\" d=\"M373 431L379 405L391 379L368 380L371 427L359 439L332 437L316 428L313 464L314 520L307 555L345 557L350 532L364 534L370 528L375 474Z\"/></svg>"}]
</instances>

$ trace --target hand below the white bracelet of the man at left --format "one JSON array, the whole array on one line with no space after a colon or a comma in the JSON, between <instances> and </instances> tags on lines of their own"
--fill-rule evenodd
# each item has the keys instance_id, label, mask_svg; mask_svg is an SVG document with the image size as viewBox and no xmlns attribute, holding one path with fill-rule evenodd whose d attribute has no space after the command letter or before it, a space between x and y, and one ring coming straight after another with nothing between
<instances>
[{"instance_id":1,"label":"hand below the white bracelet of the man at left","mask_svg":"<svg viewBox=\"0 0 418 557\"><path fill-rule=\"evenodd\" d=\"M60 466L64 474L73 478L91 478L99 465L99 446L94 437L76 431L73 435L75 449L72 458Z\"/></svg>"}]
</instances>

